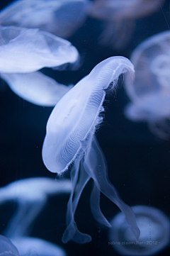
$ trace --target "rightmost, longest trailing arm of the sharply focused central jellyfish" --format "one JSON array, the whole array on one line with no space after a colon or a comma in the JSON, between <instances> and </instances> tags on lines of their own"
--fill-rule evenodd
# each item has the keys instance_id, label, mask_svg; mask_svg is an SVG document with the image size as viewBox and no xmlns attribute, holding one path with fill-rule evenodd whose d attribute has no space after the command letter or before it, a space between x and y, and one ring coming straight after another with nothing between
<instances>
[{"instance_id":1,"label":"rightmost, longest trailing arm of the sharply focused central jellyfish","mask_svg":"<svg viewBox=\"0 0 170 256\"><path fill-rule=\"evenodd\" d=\"M96 161L94 161L94 158ZM124 213L125 219L130 225L133 235L135 235L135 239L138 240L140 237L140 230L137 227L135 213L133 213L130 206L120 199L118 191L113 184L108 182L106 160L95 136L91 143L91 148L86 150L84 169L91 175L91 178L94 179L96 187L98 187L98 189L107 196L108 199L113 201L113 203L120 208L120 211Z\"/></svg>"}]
</instances>

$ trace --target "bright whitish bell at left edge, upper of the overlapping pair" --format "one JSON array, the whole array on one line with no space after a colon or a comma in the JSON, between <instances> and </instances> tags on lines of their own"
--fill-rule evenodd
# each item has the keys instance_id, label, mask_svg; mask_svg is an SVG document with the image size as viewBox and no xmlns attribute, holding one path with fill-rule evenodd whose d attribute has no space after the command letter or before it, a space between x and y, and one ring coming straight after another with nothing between
<instances>
[{"instance_id":1,"label":"bright whitish bell at left edge, upper of the overlapping pair","mask_svg":"<svg viewBox=\"0 0 170 256\"><path fill-rule=\"evenodd\" d=\"M0 72L28 73L77 61L69 41L36 28L0 26Z\"/></svg>"}]
</instances>

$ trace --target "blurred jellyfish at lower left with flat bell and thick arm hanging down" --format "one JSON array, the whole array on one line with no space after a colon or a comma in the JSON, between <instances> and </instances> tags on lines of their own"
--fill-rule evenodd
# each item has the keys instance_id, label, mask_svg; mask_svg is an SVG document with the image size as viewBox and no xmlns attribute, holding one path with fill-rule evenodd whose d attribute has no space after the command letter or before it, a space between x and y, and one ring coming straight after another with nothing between
<instances>
[{"instance_id":1,"label":"blurred jellyfish at lower left with flat bell and thick arm hanging down","mask_svg":"<svg viewBox=\"0 0 170 256\"><path fill-rule=\"evenodd\" d=\"M31 224L47 202L47 196L58 193L70 193L69 180L57 182L54 179L35 177L21 179L0 189L0 205L8 201L17 201L16 213L5 230L8 238L28 235Z\"/></svg>"}]
</instances>

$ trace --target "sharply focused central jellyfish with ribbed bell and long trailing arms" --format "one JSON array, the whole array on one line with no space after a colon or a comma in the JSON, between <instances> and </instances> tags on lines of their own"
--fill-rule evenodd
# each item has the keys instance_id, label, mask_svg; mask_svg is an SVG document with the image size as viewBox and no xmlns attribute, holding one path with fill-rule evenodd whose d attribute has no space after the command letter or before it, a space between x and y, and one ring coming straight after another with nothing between
<instances>
[{"instance_id":1,"label":"sharply focused central jellyfish with ribbed bell and long trailing arms","mask_svg":"<svg viewBox=\"0 0 170 256\"><path fill-rule=\"evenodd\" d=\"M109 57L100 62L89 75L65 94L47 121L42 160L50 172L62 176L71 167L72 193L67 204L66 223L62 242L73 240L88 243L91 236L81 233L74 221L74 213L81 193L89 179L94 180L91 192L91 211L96 221L111 227L100 208L102 192L125 214L132 233L138 239L140 230L135 214L125 204L115 187L108 181L104 154L98 145L95 130L103 121L103 101L108 89L114 89L120 74L134 74L131 62L125 57Z\"/></svg>"}]
</instances>

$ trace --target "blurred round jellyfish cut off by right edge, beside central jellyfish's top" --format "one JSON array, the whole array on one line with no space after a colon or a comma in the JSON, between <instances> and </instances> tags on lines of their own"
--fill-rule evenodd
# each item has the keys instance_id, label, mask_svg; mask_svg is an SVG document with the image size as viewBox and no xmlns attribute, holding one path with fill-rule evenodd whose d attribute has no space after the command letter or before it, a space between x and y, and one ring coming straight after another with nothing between
<instances>
[{"instance_id":1,"label":"blurred round jellyfish cut off by right edge, beside central jellyfish's top","mask_svg":"<svg viewBox=\"0 0 170 256\"><path fill-rule=\"evenodd\" d=\"M132 101L125 116L132 121L147 121L153 133L170 138L170 32L152 36L132 53L135 80L126 82Z\"/></svg>"}]
</instances>

